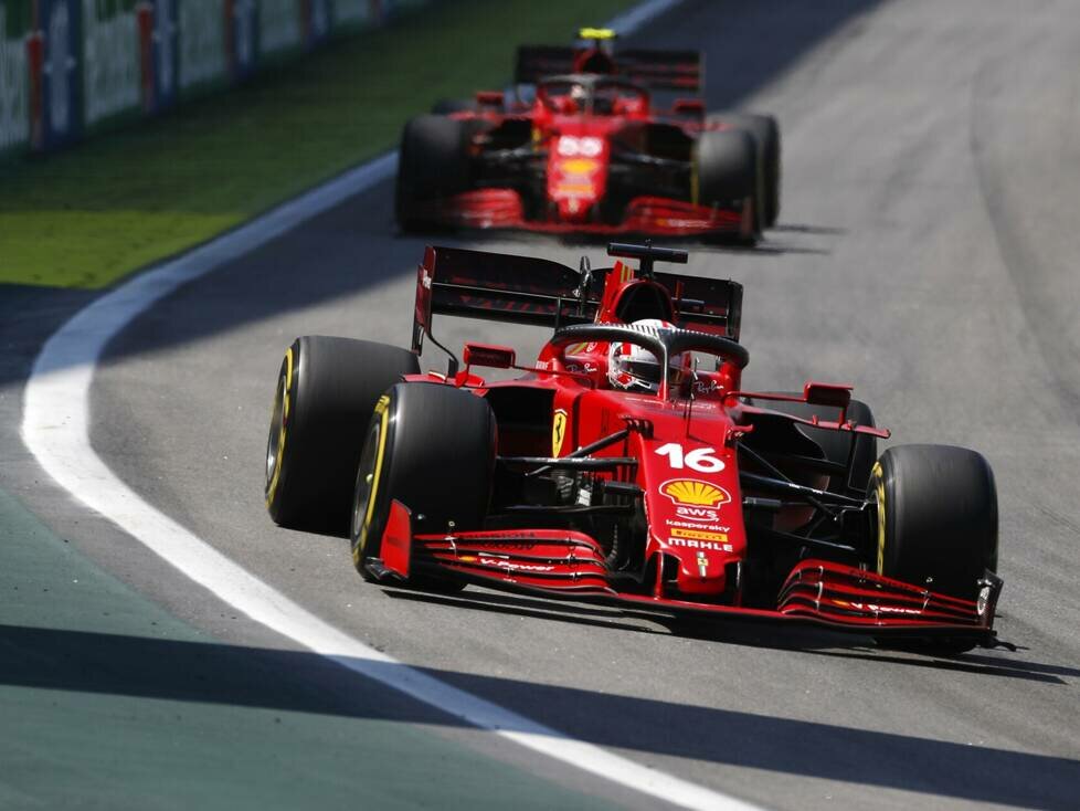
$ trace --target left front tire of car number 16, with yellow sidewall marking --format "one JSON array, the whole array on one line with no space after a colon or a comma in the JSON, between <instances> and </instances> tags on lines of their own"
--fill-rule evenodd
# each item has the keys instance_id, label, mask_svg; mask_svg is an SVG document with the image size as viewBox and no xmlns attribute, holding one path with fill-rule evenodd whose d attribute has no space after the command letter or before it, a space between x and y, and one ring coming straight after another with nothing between
<instances>
[{"instance_id":1,"label":"left front tire of car number 16, with yellow sidewall marking","mask_svg":"<svg viewBox=\"0 0 1080 811\"><path fill-rule=\"evenodd\" d=\"M374 408L356 476L352 559L367 580L380 557L390 505L404 504L412 528L443 533L480 529L495 471L495 414L487 400L441 383L398 383ZM449 581L411 577L425 588Z\"/></svg>"}]
</instances>

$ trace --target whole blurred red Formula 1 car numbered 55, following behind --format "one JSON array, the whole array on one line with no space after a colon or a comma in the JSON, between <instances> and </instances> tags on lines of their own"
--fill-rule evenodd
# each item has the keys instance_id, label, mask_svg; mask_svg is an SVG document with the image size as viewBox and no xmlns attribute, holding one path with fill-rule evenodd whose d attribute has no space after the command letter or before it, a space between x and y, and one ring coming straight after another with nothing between
<instances>
[{"instance_id":1,"label":"whole blurred red Formula 1 car numbered 55, following behind","mask_svg":"<svg viewBox=\"0 0 1080 811\"><path fill-rule=\"evenodd\" d=\"M752 240L775 222L774 118L707 116L697 52L613 52L610 31L582 35L592 44L520 49L512 96L441 103L405 125L403 228ZM673 92L687 95L659 108L655 96Z\"/></svg>"}]
</instances>

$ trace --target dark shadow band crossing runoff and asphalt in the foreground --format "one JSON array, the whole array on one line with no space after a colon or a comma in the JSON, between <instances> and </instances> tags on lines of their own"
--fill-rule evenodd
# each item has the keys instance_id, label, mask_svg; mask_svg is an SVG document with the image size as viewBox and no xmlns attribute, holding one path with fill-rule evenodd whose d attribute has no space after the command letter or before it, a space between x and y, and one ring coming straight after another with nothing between
<instances>
[{"instance_id":1,"label":"dark shadow band crossing runoff and asphalt in the foreground","mask_svg":"<svg viewBox=\"0 0 1080 811\"><path fill-rule=\"evenodd\" d=\"M976 663L993 660L974 659ZM390 683L402 668L369 665ZM1060 675L1080 675L1077 670L1055 668ZM493 676L426 672L599 746L975 802L1076 808L1080 761L1068 758ZM54 629L0 625L0 684L462 725L313 653ZM679 734L666 734L674 729ZM923 763L925 769L920 767ZM941 769L941 763L949 768Z\"/></svg>"}]
</instances>

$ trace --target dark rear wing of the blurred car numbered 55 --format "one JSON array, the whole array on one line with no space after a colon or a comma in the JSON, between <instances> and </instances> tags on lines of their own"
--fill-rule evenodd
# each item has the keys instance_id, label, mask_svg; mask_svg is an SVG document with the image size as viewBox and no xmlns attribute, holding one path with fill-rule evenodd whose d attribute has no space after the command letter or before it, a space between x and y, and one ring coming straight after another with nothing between
<instances>
[{"instance_id":1,"label":"dark rear wing of the blurred car numbered 55","mask_svg":"<svg viewBox=\"0 0 1080 811\"><path fill-rule=\"evenodd\" d=\"M579 59L583 53L569 45L521 45L513 82L537 84L547 76L582 72ZM614 75L652 89L695 94L703 88L705 56L699 51L633 48L615 51L614 62Z\"/></svg>"}]
</instances>

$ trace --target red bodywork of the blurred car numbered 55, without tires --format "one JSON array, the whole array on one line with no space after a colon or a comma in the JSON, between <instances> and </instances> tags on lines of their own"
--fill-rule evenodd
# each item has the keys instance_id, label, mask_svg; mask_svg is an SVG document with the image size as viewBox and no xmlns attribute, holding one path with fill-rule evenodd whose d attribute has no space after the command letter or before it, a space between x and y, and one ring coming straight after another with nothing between
<instances>
[{"instance_id":1,"label":"red bodywork of the blurred car numbered 55, without tires","mask_svg":"<svg viewBox=\"0 0 1080 811\"><path fill-rule=\"evenodd\" d=\"M601 105L554 93L560 73L569 74L567 80L611 82L612 97ZM699 203L692 168L679 188L660 185L666 188L653 189L645 181L632 183L634 190L625 194L611 189L613 166L633 173L635 162L656 166L667 159L667 146L659 150L650 146L653 134L678 133L692 143L703 131L728 128L706 120L703 103L692 95L701 87L699 54L626 51L614 59L600 48L525 48L519 53L516 82L519 86L538 83L534 98L522 102L504 93L479 92L475 109L452 114L473 126L468 149L481 167L476 188L425 201L415 207L415 215L455 227L549 233L754 236L752 198ZM660 107L654 102L654 91L691 95ZM501 140L499 133L518 126L529 134L525 149L490 147L493 140ZM564 148L574 143L595 145L595 150L582 154ZM542 192L520 182L525 177L542 181ZM612 214L613 210L617 213Z\"/></svg>"}]
</instances>

